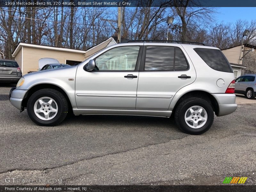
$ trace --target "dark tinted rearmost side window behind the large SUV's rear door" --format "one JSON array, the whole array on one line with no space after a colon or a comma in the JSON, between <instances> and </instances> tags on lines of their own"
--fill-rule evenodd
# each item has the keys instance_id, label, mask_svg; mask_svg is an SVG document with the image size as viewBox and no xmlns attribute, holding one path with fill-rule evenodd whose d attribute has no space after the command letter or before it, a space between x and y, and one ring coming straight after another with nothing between
<instances>
[{"instance_id":1,"label":"dark tinted rearmost side window behind the large SUV's rear door","mask_svg":"<svg viewBox=\"0 0 256 192\"><path fill-rule=\"evenodd\" d=\"M220 50L208 48L195 48L194 50L210 68L233 73L228 61Z\"/></svg>"}]
</instances>

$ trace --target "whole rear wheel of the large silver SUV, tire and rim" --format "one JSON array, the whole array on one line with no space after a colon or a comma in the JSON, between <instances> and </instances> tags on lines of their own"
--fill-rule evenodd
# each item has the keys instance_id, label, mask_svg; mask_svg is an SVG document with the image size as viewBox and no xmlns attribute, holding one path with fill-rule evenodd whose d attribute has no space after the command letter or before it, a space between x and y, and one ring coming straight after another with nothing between
<instances>
[{"instance_id":1,"label":"whole rear wheel of the large silver SUV, tire and rim","mask_svg":"<svg viewBox=\"0 0 256 192\"><path fill-rule=\"evenodd\" d=\"M202 134L212 126L212 106L201 98L188 98L180 102L175 111L178 127L189 134Z\"/></svg>"}]
</instances>

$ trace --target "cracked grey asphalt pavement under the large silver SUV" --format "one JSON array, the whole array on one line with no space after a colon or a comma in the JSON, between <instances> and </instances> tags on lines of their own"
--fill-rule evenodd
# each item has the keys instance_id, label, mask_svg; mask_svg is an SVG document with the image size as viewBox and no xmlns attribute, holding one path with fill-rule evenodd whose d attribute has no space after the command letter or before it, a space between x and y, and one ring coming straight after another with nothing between
<instances>
[{"instance_id":1,"label":"cracked grey asphalt pavement under the large silver SUV","mask_svg":"<svg viewBox=\"0 0 256 192\"><path fill-rule=\"evenodd\" d=\"M220 185L226 176L256 184L255 103L215 116L197 136L181 132L173 118L144 116L74 116L42 127L10 104L10 88L0 87L0 185L19 184L6 183L10 177L65 185Z\"/></svg>"}]
</instances>

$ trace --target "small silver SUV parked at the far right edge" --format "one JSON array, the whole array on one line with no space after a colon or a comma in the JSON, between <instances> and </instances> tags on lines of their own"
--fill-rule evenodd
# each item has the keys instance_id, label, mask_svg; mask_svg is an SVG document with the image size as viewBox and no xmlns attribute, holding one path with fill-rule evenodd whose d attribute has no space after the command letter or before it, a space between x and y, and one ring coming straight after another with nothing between
<instances>
[{"instance_id":1,"label":"small silver SUV parked at the far right edge","mask_svg":"<svg viewBox=\"0 0 256 192\"><path fill-rule=\"evenodd\" d=\"M256 75L247 74L236 79L235 92L242 93L248 99L256 97Z\"/></svg>"}]
</instances>

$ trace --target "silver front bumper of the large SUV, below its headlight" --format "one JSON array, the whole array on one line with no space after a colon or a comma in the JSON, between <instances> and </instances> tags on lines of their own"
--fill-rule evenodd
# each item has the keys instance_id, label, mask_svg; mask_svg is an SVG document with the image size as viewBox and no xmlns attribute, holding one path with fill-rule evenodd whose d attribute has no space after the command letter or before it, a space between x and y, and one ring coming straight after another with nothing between
<instances>
[{"instance_id":1,"label":"silver front bumper of the large SUV, below its headlight","mask_svg":"<svg viewBox=\"0 0 256 192\"><path fill-rule=\"evenodd\" d=\"M24 110L24 108L22 107L22 100L24 99L27 92L28 90L20 90L20 89L16 89L15 87L13 87L10 90L10 94L9 94L10 102L14 107L19 109L20 111Z\"/></svg>"}]
</instances>

